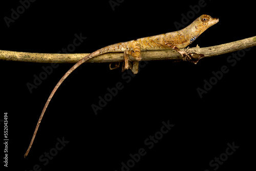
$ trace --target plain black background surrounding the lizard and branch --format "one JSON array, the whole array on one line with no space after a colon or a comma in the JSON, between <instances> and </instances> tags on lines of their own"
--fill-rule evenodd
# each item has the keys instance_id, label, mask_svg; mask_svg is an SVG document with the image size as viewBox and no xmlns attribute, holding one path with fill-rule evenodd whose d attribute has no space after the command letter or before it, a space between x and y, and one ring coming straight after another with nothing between
<instances>
[{"instance_id":1,"label":"plain black background surrounding the lizard and branch","mask_svg":"<svg viewBox=\"0 0 256 171\"><path fill-rule=\"evenodd\" d=\"M11 9L20 2L1 2L0 49L57 53L81 33L87 39L72 53L90 53L116 42L175 31L174 22L181 23L181 14L186 15L191 11L189 6L198 2L125 0L113 11L109 1L36 1L9 28L4 17L10 17ZM190 47L255 36L254 2L205 3L189 23L201 14L218 17L220 22ZM130 170L214 170L217 167L209 162L225 153L227 143L234 142L239 148L217 170L248 170L255 161L255 48L233 67L227 62L231 54L204 58L197 65L149 61L128 83L122 78L124 73L110 71L108 63L83 64L56 92L26 159L23 156L41 110L73 64L59 64L30 93L27 83L33 83L33 75L39 75L50 63L0 61L1 119L8 112L8 169L33 170L38 164L41 170L120 171L121 162L131 159L129 154L145 148L146 155ZM222 66L229 72L200 98L197 88L203 88L204 80ZM95 115L91 105L98 104L98 97L117 82L124 88ZM168 120L175 126L148 149L144 141ZM4 131L3 122L1 127ZM39 157L62 137L69 143L44 165ZM3 145L0 151L4 165Z\"/></svg>"}]
</instances>

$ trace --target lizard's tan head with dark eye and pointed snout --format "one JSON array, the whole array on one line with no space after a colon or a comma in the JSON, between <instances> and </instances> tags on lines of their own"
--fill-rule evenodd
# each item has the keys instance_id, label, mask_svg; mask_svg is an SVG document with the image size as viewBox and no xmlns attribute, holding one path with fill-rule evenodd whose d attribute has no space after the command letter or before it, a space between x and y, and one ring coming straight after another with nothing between
<instances>
[{"instance_id":1,"label":"lizard's tan head with dark eye and pointed snout","mask_svg":"<svg viewBox=\"0 0 256 171\"><path fill-rule=\"evenodd\" d=\"M215 25L219 22L219 18L212 18L210 15L203 14L195 20L196 27L202 28L203 30Z\"/></svg>"}]
</instances>

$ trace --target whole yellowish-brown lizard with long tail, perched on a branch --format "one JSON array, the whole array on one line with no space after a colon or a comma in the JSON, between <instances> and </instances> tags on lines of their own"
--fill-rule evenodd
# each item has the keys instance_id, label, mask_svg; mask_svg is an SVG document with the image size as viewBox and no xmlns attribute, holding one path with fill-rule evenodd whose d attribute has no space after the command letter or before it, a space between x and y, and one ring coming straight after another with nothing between
<instances>
[{"instance_id":1,"label":"whole yellowish-brown lizard with long tail, perched on a branch","mask_svg":"<svg viewBox=\"0 0 256 171\"><path fill-rule=\"evenodd\" d=\"M53 91L51 92L44 106L44 109L41 112L33 137L31 139L30 145L24 157L26 158L30 151L30 148L35 139L39 124L41 122L41 119L44 116L47 106L50 103L54 93L59 88L60 84L83 62L104 53L123 52L124 64L122 67L122 71L131 69L134 74L137 74L139 61L141 60L141 51L174 49L182 55L183 60L189 61L191 60L189 54L186 54L186 52L184 51L180 51L180 49L183 49L188 45L190 45L206 29L215 25L218 22L219 22L219 18L212 18L209 15L203 14L200 17L198 17L193 23L191 23L190 25L188 25L186 28L182 30L159 34L159 35L150 36L150 37L138 38L138 39L126 41L126 42L120 42L117 44L113 44L113 45L101 48L83 57L58 81ZM133 58L135 58L135 61L133 61L133 64L131 63L130 55Z\"/></svg>"}]
</instances>

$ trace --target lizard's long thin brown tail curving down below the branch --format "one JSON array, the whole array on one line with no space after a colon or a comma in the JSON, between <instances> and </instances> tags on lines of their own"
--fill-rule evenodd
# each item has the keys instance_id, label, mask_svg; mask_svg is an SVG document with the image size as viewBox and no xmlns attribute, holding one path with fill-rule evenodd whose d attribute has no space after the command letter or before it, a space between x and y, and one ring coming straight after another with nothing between
<instances>
[{"instance_id":1,"label":"lizard's long thin brown tail curving down below the branch","mask_svg":"<svg viewBox=\"0 0 256 171\"><path fill-rule=\"evenodd\" d=\"M53 89L52 93L50 94L50 96L49 96L49 98L48 98L48 100L47 100L47 102L46 102L46 104L45 104L44 109L42 110L42 113L41 113L41 115L40 115L40 117L39 117L39 120L38 120L38 122L37 122L37 125L36 125L36 127L35 127L35 132L34 132L34 134L33 134L33 137L32 137L32 139L31 139L31 142L30 142L30 144L29 144L29 147L28 147L28 149L27 149L27 152L26 152L26 154L24 155L24 158L26 158L26 157L28 156L28 154L29 154L30 148L31 148L31 146L32 146L32 144L33 144L33 142L34 142L35 135L36 135L36 132L37 132L37 130L38 130L39 124L40 124L40 122L41 122L41 120L42 120L42 117L44 116L44 114L45 114L45 112L46 112L46 109L47 109L47 106L48 106L48 104L50 103L50 101L51 101L51 99L52 99L54 93L55 93L56 90L59 88L60 84L70 75L70 73L72 73L72 72L73 72L77 67L79 67L83 62L85 62L85 61L87 61L87 60L89 60L89 59L91 59L91 58L93 58L93 57L95 57L95 56L98 56L98 55L100 55L100 54L103 54L103 53L106 53L106 50L104 50L104 48L102 48L102 49L100 49L100 50L97 50L97 51L95 51L95 52L93 52L93 53L87 55L86 57L82 58L81 60L79 60L79 61L78 61L78 62L77 62L77 63L59 80L59 82L56 84L55 88Z\"/></svg>"}]
</instances>

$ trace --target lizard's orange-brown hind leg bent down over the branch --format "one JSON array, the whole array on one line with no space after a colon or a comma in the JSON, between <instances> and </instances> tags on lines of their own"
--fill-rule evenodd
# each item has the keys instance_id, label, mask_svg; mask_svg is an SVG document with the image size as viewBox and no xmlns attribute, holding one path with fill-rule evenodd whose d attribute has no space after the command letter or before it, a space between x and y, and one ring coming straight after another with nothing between
<instances>
[{"instance_id":1,"label":"lizard's orange-brown hind leg bent down over the branch","mask_svg":"<svg viewBox=\"0 0 256 171\"><path fill-rule=\"evenodd\" d=\"M131 64L131 60L129 55L134 57L136 61L133 61L133 65ZM134 74L137 74L139 71L139 61L141 60L141 48L139 45L135 45L132 47L132 50L124 52L124 65L122 71L131 69Z\"/></svg>"}]
</instances>

